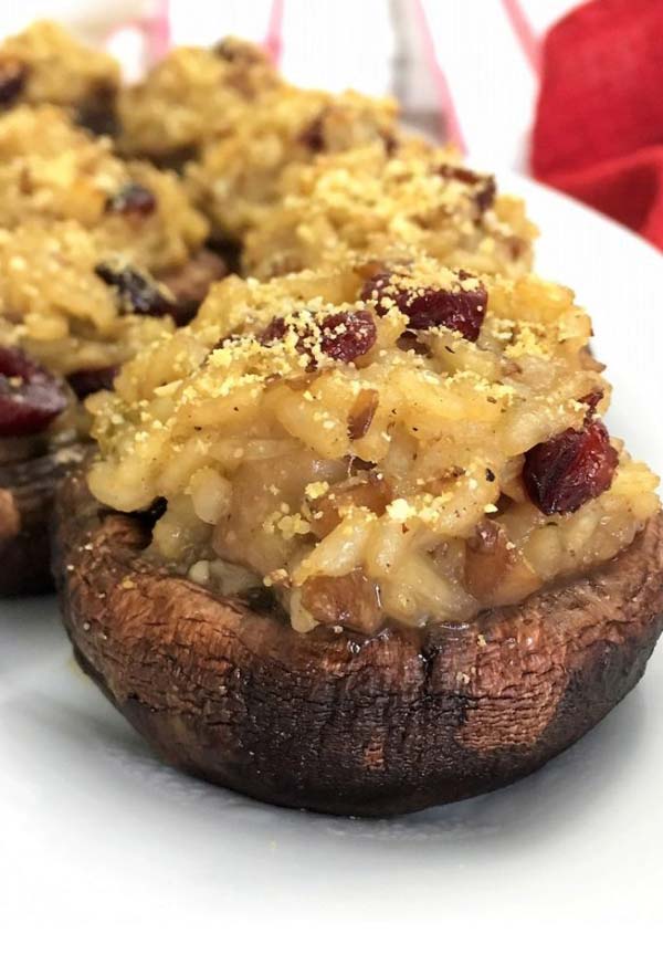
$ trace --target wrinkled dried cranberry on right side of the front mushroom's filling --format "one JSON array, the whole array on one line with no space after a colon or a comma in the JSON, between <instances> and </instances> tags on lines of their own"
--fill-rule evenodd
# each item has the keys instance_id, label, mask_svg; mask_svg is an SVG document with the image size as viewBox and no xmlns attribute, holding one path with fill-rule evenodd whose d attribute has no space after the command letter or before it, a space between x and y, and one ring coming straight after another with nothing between
<instances>
[{"instance_id":1,"label":"wrinkled dried cranberry on right side of the front mushroom's filling","mask_svg":"<svg viewBox=\"0 0 663 965\"><path fill-rule=\"evenodd\" d=\"M603 423L588 419L525 455L523 482L532 502L547 516L575 513L610 487L619 457Z\"/></svg>"}]
</instances>

